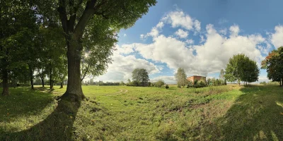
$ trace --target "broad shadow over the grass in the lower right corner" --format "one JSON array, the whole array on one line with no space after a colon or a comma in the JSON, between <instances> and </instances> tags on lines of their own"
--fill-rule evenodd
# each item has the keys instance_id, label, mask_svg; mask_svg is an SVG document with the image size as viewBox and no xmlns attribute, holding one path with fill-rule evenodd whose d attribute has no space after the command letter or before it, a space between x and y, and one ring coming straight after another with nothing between
<instances>
[{"instance_id":1,"label":"broad shadow over the grass in the lower right corner","mask_svg":"<svg viewBox=\"0 0 283 141\"><path fill-rule=\"evenodd\" d=\"M283 140L283 92L277 86L243 87L222 118L205 123L209 140Z\"/></svg>"}]
</instances>

